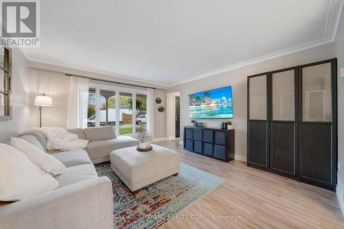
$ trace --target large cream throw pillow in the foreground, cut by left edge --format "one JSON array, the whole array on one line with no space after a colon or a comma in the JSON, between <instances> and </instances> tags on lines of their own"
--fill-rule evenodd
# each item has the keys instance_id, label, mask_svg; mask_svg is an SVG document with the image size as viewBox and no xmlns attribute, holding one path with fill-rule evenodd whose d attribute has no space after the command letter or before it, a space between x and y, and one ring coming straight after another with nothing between
<instances>
[{"instance_id":1,"label":"large cream throw pillow in the foreground, cut by left edge","mask_svg":"<svg viewBox=\"0 0 344 229\"><path fill-rule=\"evenodd\" d=\"M0 201L17 201L58 187L52 175L32 163L21 151L0 143Z\"/></svg>"}]
</instances>

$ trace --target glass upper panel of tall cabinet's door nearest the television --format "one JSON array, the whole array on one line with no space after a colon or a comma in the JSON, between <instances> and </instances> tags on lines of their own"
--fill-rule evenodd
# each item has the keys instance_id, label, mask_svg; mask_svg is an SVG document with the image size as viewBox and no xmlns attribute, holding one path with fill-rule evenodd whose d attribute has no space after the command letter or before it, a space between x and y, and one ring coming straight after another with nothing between
<instances>
[{"instance_id":1,"label":"glass upper panel of tall cabinet's door nearest the television","mask_svg":"<svg viewBox=\"0 0 344 229\"><path fill-rule=\"evenodd\" d=\"M250 96L250 98L248 98L250 120L267 119L266 78L266 75L248 78L248 94Z\"/></svg>"}]
</instances>

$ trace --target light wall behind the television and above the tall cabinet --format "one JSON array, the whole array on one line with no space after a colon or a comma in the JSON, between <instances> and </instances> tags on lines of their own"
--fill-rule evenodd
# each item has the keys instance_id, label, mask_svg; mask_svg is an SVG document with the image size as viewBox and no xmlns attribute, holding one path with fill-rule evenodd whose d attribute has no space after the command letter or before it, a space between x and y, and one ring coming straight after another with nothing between
<instances>
[{"instance_id":1,"label":"light wall behind the television and above the tall cabinet","mask_svg":"<svg viewBox=\"0 0 344 229\"><path fill-rule=\"evenodd\" d=\"M199 91L232 85L234 116L233 128L235 128L235 158L237 160L246 161L247 76L283 69L286 67L293 67L296 65L303 65L315 61L323 61L325 59L334 57L333 43L330 43L171 87L169 89L171 92L180 91L180 137L183 137L183 127L191 124L189 118L188 95ZM208 127L219 127L220 123L223 121L224 120L200 120L200 122L206 122L206 126Z\"/></svg>"}]
</instances>

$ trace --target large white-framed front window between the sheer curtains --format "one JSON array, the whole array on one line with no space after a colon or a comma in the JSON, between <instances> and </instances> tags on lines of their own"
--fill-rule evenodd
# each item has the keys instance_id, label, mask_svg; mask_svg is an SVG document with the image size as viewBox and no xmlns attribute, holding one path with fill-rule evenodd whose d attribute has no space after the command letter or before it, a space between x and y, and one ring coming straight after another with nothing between
<instances>
[{"instance_id":1,"label":"large white-framed front window between the sheer curtains","mask_svg":"<svg viewBox=\"0 0 344 229\"><path fill-rule=\"evenodd\" d=\"M117 135L146 130L147 91L91 84L87 115L88 127L111 126Z\"/></svg>"}]
</instances>

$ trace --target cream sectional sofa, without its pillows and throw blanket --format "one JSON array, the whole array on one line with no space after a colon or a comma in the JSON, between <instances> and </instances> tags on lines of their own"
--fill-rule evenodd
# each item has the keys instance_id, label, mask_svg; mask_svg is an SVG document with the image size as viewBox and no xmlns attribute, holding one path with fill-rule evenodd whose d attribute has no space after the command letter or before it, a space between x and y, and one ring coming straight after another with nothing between
<instances>
[{"instance_id":1,"label":"cream sectional sofa, without its pillows and throw blanket","mask_svg":"<svg viewBox=\"0 0 344 229\"><path fill-rule=\"evenodd\" d=\"M0 201L0 228L113 228L109 219L113 214L112 184L109 178L98 177L93 164L109 161L111 151L136 146L138 140L116 137L109 128L68 130L89 143L85 150L63 152L47 151L47 139L39 132L21 135L40 144L39 148L60 160L67 171L54 176L59 186L49 193L16 202Z\"/></svg>"}]
</instances>

